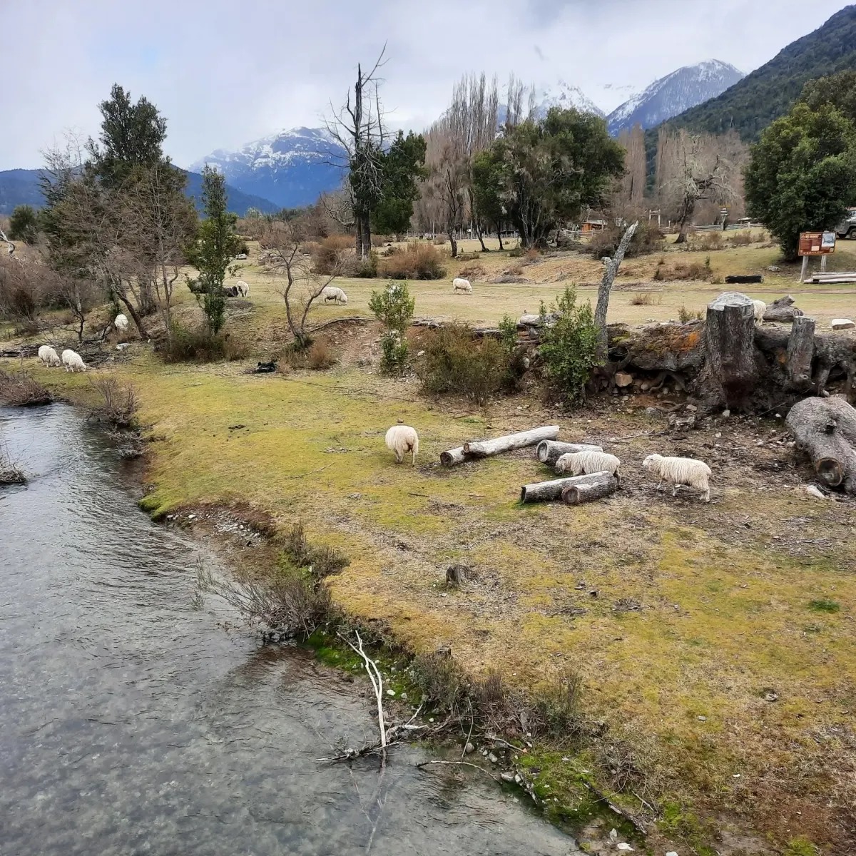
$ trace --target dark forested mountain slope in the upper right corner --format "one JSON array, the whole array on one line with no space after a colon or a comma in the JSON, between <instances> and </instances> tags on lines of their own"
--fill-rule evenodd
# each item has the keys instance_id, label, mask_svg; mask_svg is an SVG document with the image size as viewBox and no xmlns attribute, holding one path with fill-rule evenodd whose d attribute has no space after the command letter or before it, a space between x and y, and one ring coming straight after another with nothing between
<instances>
[{"instance_id":1,"label":"dark forested mountain slope in the upper right corner","mask_svg":"<svg viewBox=\"0 0 856 856\"><path fill-rule=\"evenodd\" d=\"M805 12L808 20L811 3L805 3ZM722 95L675 116L669 127L710 134L736 128L743 140L757 140L791 109L806 80L848 69L856 69L856 5L841 9Z\"/></svg>"}]
</instances>

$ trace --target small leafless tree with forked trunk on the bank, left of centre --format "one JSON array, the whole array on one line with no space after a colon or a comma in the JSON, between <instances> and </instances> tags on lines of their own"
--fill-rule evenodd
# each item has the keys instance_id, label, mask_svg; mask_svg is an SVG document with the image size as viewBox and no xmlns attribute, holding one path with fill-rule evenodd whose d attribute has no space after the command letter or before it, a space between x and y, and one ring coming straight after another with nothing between
<instances>
[{"instance_id":1,"label":"small leafless tree with forked trunk on the bank, left of centre","mask_svg":"<svg viewBox=\"0 0 856 856\"><path fill-rule=\"evenodd\" d=\"M288 329L294 336L297 348L306 348L312 330L306 330L306 318L312 304L342 272L340 256L324 276L312 270L312 259L303 251L306 241L306 223L300 220L274 221L270 223L259 241L264 250L264 265L269 273L285 277L280 294L285 300L285 316Z\"/></svg>"}]
</instances>

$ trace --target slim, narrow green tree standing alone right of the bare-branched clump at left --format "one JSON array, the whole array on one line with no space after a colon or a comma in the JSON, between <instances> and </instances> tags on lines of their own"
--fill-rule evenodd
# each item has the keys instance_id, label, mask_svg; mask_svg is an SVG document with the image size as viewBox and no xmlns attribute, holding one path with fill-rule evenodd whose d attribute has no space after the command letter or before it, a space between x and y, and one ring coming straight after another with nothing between
<instances>
[{"instance_id":1,"label":"slim, narrow green tree standing alone right of the bare-branched clump at left","mask_svg":"<svg viewBox=\"0 0 856 856\"><path fill-rule=\"evenodd\" d=\"M202 207L205 220L199 225L196 245L188 253L199 276L188 276L187 286L205 312L211 336L216 336L223 329L226 313L223 280L230 272L229 262L241 247L241 239L235 234L237 217L229 213L226 179L210 166L202 170Z\"/></svg>"}]
</instances>

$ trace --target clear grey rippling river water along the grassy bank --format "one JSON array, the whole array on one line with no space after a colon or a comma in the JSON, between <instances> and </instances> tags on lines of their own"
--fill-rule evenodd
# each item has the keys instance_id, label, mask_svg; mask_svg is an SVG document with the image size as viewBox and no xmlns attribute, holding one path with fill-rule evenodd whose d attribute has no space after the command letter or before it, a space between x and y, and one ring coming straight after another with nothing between
<instances>
[{"instance_id":1,"label":"clear grey rippling river water along the grassy bank","mask_svg":"<svg viewBox=\"0 0 856 856\"><path fill-rule=\"evenodd\" d=\"M0 487L0 854L576 853L415 748L319 764L373 738L354 685L193 609L199 546L72 408L0 408L0 444L30 477Z\"/></svg>"}]
</instances>

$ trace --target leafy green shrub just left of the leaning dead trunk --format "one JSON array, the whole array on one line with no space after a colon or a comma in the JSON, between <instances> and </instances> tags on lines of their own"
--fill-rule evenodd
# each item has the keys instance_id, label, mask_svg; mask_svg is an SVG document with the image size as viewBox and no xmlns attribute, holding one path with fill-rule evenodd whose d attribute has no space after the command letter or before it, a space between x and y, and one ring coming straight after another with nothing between
<instances>
[{"instance_id":1,"label":"leafy green shrub just left of the leaning dead trunk","mask_svg":"<svg viewBox=\"0 0 856 856\"><path fill-rule=\"evenodd\" d=\"M569 405L585 398L585 387L591 370L597 366L597 326L591 303L577 306L575 288L566 288L555 306L555 323L546 324L547 312L541 304L542 336L538 353L544 360L548 380Z\"/></svg>"}]
</instances>

